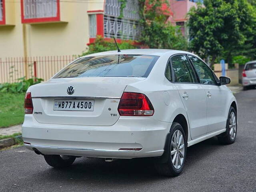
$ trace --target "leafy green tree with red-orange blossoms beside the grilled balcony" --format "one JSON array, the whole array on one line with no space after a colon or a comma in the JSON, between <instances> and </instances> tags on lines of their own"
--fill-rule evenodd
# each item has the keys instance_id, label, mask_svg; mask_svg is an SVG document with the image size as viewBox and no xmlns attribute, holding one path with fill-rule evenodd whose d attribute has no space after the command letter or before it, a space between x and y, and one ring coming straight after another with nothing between
<instances>
[{"instance_id":1,"label":"leafy green tree with red-orange blossoms beside the grilled balcony","mask_svg":"<svg viewBox=\"0 0 256 192\"><path fill-rule=\"evenodd\" d=\"M186 50L187 41L179 26L167 21L172 12L166 0L139 0L141 24L140 41L150 48Z\"/></svg>"}]
</instances>

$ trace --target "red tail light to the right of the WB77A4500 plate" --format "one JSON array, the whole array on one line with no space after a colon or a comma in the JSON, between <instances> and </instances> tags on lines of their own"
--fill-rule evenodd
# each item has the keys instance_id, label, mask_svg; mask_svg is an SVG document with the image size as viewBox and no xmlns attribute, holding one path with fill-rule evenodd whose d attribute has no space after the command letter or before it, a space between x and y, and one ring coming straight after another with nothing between
<instances>
[{"instance_id":1,"label":"red tail light to the right of the WB77A4500 plate","mask_svg":"<svg viewBox=\"0 0 256 192\"><path fill-rule=\"evenodd\" d=\"M152 116L154 108L142 93L124 92L118 105L120 116Z\"/></svg>"}]
</instances>

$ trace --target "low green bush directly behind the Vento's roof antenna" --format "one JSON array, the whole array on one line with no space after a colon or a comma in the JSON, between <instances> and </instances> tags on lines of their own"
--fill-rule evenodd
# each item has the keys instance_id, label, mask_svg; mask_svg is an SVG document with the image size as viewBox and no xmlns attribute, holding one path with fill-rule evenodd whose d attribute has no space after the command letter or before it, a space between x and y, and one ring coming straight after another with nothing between
<instances>
[{"instance_id":1,"label":"low green bush directly behind the Vento's roof antenna","mask_svg":"<svg viewBox=\"0 0 256 192\"><path fill-rule=\"evenodd\" d=\"M132 45L131 40L121 41L121 43L118 44L118 47L120 48L120 50L136 49L136 46ZM110 41L106 41L101 36L97 36L95 42L89 45L88 51L86 50L87 52L83 52L82 55L80 56L103 52L103 51L112 51L112 50L117 50L114 39Z\"/></svg>"}]
</instances>

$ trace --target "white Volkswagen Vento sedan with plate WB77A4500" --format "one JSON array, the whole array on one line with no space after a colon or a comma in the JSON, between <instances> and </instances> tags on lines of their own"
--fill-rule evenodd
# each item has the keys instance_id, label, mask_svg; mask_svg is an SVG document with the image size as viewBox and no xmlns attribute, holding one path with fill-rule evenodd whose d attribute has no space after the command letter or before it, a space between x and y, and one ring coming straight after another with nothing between
<instances>
[{"instance_id":1,"label":"white Volkswagen Vento sedan with plate WB77A4500","mask_svg":"<svg viewBox=\"0 0 256 192\"><path fill-rule=\"evenodd\" d=\"M28 88L24 144L53 167L80 156L154 157L160 174L177 176L187 147L213 136L224 144L236 140L237 104L228 83L190 52L83 56Z\"/></svg>"}]
</instances>

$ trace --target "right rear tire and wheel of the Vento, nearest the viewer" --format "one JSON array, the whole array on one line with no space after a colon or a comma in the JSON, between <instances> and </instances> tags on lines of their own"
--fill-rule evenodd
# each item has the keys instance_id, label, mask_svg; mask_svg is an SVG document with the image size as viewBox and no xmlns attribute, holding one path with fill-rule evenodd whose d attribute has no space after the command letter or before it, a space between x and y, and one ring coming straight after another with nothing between
<instances>
[{"instance_id":1,"label":"right rear tire and wheel of the Vento, nearest the viewer","mask_svg":"<svg viewBox=\"0 0 256 192\"><path fill-rule=\"evenodd\" d=\"M175 140L177 136L178 138L180 138L180 134L182 135L182 140L180 141L180 143L177 143L175 142ZM156 161L155 162L156 171L163 176L178 176L184 168L186 152L187 152L186 134L184 133L184 130L179 123L177 122L172 123L170 134L168 134L168 138L166 141L167 141L166 152L167 152L168 160L167 162L164 162L164 163ZM178 163L178 166L177 166L177 163Z\"/></svg>"}]
</instances>

